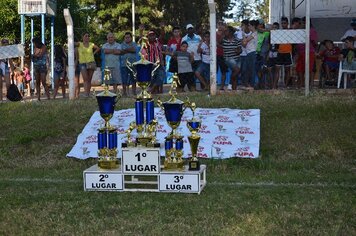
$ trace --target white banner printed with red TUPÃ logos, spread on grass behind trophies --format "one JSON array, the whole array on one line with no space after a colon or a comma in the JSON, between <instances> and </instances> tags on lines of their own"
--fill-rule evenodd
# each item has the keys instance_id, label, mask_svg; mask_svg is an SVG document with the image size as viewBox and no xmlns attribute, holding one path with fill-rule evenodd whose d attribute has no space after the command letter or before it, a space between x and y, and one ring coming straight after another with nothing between
<instances>
[{"instance_id":1,"label":"white banner printed with red TUP\u00c3 logos, spread on grass behind trophies","mask_svg":"<svg viewBox=\"0 0 356 236\"><path fill-rule=\"evenodd\" d=\"M196 117L202 120L199 134L201 136L198 156L201 158L258 158L260 149L260 110L238 110L229 108L202 109L195 111ZM191 119L192 112L187 109L177 131L184 135L184 156L190 157L191 151L187 136L190 132L186 121ZM157 142L161 143L161 156L164 156L164 138L171 128L166 122L164 112L155 108L155 118L158 121ZM115 111L110 124L118 130L118 155L121 158L121 145L125 142L125 130L131 121L135 120L135 110L127 109ZM100 113L95 112L88 124L77 138L77 142L67 157L86 159L98 157L97 133L104 126ZM132 133L135 136L135 131Z\"/></svg>"}]
</instances>

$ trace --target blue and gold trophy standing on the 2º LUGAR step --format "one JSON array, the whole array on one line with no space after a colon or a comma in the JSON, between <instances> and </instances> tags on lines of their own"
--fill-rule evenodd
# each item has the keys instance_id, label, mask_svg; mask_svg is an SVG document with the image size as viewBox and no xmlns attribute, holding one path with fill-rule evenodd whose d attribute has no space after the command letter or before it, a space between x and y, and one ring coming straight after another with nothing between
<instances>
[{"instance_id":1,"label":"blue and gold trophy standing on the 2\u00ba LUGAR step","mask_svg":"<svg viewBox=\"0 0 356 236\"><path fill-rule=\"evenodd\" d=\"M110 80L110 77L110 70L104 69L104 80ZM117 129L109 123L119 97L109 91L108 85L104 85L104 91L96 95L100 116L105 121L104 127L98 129L98 166L102 169L116 169L119 167L117 159Z\"/></svg>"}]
</instances>

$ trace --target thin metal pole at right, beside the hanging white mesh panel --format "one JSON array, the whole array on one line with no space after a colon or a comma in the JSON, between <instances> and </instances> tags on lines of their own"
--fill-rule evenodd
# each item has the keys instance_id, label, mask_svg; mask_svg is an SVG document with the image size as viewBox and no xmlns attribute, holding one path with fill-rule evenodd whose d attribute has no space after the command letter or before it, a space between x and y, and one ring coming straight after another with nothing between
<instances>
[{"instance_id":1,"label":"thin metal pole at right, beside the hanging white mesh panel","mask_svg":"<svg viewBox=\"0 0 356 236\"><path fill-rule=\"evenodd\" d=\"M310 0L306 0L305 6L305 96L309 95L309 54L310 54Z\"/></svg>"}]
</instances>

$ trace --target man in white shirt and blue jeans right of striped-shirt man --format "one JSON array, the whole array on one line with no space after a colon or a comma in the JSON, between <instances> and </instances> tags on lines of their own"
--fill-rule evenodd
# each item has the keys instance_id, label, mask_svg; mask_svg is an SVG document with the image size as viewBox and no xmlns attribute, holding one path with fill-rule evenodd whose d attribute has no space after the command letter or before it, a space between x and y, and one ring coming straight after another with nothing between
<instances>
[{"instance_id":1,"label":"man in white shirt and blue jeans right of striped-shirt man","mask_svg":"<svg viewBox=\"0 0 356 236\"><path fill-rule=\"evenodd\" d=\"M253 88L255 73L256 73L256 50L257 50L257 40L258 35L256 28L258 26L258 21L251 20L248 24L249 31L251 32L248 36L244 36L242 40L242 46L245 47L246 57L245 57L245 74L242 78L242 85L246 88Z\"/></svg>"}]
</instances>

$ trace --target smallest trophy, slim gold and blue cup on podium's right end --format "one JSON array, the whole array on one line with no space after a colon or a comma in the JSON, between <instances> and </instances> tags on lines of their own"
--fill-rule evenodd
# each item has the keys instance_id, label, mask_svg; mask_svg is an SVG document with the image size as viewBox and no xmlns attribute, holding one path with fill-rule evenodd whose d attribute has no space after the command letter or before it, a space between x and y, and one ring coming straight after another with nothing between
<instances>
[{"instance_id":1,"label":"smallest trophy, slim gold and blue cup on podium's right end","mask_svg":"<svg viewBox=\"0 0 356 236\"><path fill-rule=\"evenodd\" d=\"M201 121L195 117L195 103L191 104L191 110L193 112L193 118L187 121L187 127L192 135L188 136L190 150L192 152L192 157L189 160L189 170L200 170L200 162L197 157L198 145L200 141L200 135L198 131L201 126Z\"/></svg>"}]
</instances>

